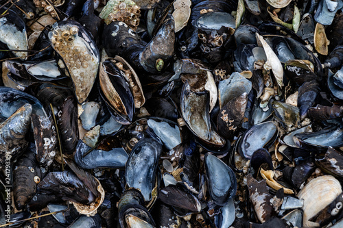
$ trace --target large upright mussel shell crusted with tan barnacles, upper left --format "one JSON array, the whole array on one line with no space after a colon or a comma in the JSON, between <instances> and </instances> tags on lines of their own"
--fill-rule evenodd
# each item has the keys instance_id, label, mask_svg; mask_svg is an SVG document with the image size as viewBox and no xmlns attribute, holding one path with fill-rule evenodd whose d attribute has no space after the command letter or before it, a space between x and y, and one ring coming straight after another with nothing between
<instances>
[{"instance_id":1,"label":"large upright mussel shell crusted with tan barnacles, upper left","mask_svg":"<svg viewBox=\"0 0 343 228\"><path fill-rule=\"evenodd\" d=\"M93 36L77 21L67 20L52 26L49 39L73 80L78 103L86 101L100 62Z\"/></svg>"}]
</instances>

